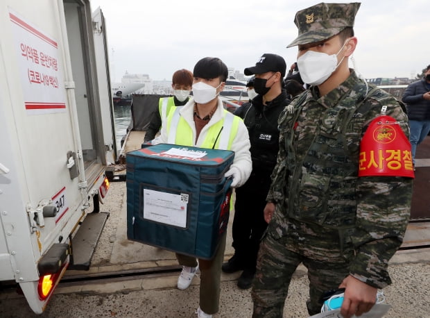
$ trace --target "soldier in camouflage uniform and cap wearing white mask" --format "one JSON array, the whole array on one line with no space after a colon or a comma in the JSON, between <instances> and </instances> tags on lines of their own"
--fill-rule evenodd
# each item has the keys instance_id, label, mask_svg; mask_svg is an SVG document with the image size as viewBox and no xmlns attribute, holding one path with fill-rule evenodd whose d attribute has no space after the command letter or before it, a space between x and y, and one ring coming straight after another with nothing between
<instances>
[{"instance_id":1,"label":"soldier in camouflage uniform and cap wearing white mask","mask_svg":"<svg viewBox=\"0 0 430 318\"><path fill-rule=\"evenodd\" d=\"M359 316L375 304L377 288L390 284L388 260L406 231L412 178L359 177L360 142L382 106L399 122L400 135L408 135L408 119L390 94L368 86L348 67L359 6L320 3L295 15L299 36L289 47L298 45L300 74L312 85L279 117L279 153L264 210L269 224L252 286L253 317L282 317L301 262L308 269L310 315L320 312L327 290L345 288L341 314ZM315 69L309 67L312 58L320 65ZM327 59L335 59L329 71ZM408 165L403 162L402 169L411 170L410 151L405 153Z\"/></svg>"}]
</instances>

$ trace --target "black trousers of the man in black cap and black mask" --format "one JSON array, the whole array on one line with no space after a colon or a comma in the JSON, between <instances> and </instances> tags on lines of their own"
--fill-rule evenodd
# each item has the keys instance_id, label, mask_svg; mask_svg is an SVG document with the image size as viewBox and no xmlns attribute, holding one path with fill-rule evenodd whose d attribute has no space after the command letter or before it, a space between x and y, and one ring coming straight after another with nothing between
<instances>
[{"instance_id":1,"label":"black trousers of the man in black cap and black mask","mask_svg":"<svg viewBox=\"0 0 430 318\"><path fill-rule=\"evenodd\" d=\"M251 174L249 180L236 188L232 237L234 254L244 269L255 271L261 236L266 231L264 207L270 186L270 174Z\"/></svg>"}]
</instances>

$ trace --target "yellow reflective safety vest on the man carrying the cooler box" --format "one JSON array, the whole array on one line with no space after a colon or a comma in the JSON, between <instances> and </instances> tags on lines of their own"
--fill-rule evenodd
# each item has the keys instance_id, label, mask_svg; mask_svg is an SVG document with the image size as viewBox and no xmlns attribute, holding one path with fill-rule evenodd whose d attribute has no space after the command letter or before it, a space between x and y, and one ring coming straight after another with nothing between
<instances>
[{"instance_id":1,"label":"yellow reflective safety vest on the man carrying the cooler box","mask_svg":"<svg viewBox=\"0 0 430 318\"><path fill-rule=\"evenodd\" d=\"M176 107L167 115L167 143L192 147L194 145L193 131L188 122L180 115L182 106ZM240 117L223 110L223 117L209 127L203 144L199 147L208 149L232 149L234 137L239 129Z\"/></svg>"}]
</instances>

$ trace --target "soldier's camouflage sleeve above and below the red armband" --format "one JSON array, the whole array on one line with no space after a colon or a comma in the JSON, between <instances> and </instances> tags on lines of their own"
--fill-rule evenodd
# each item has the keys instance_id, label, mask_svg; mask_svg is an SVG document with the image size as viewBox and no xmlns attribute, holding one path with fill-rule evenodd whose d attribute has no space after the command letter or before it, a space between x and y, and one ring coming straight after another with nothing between
<instances>
[{"instance_id":1,"label":"soldier's camouflage sleeve above and below the red armband","mask_svg":"<svg viewBox=\"0 0 430 318\"><path fill-rule=\"evenodd\" d=\"M405 112L393 97L390 100L387 115L400 122L408 137ZM372 100L370 103L376 106L373 109L381 109L381 104L378 105L380 101ZM374 112L365 127L377 115ZM351 237L356 253L350 265L350 274L360 281L378 288L391 283L388 261L402 244L411 211L412 184L413 179L404 177L359 178L356 187L356 228Z\"/></svg>"}]
</instances>

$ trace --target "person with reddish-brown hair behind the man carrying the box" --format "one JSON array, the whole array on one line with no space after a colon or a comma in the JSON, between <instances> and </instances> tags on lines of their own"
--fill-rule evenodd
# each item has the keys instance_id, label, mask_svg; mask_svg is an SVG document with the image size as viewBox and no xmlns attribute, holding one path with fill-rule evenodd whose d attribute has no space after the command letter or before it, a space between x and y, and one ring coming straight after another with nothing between
<instances>
[{"instance_id":1,"label":"person with reddish-brown hair behind the man carrying the box","mask_svg":"<svg viewBox=\"0 0 430 318\"><path fill-rule=\"evenodd\" d=\"M155 138L162 126L162 121L169 111L175 106L184 106L189 100L189 92L193 85L193 74L188 69L179 69L172 76L172 97L162 97L158 101L158 108L153 112L148 130L145 133L144 142Z\"/></svg>"}]
</instances>

